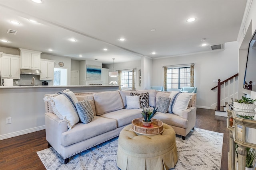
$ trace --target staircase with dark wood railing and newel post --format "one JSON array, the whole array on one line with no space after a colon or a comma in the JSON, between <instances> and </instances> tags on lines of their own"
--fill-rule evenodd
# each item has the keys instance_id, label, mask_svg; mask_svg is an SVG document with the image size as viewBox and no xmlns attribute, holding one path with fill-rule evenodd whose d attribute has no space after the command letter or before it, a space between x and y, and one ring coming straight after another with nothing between
<instances>
[{"instance_id":1,"label":"staircase with dark wood railing and newel post","mask_svg":"<svg viewBox=\"0 0 256 170\"><path fill-rule=\"evenodd\" d=\"M215 107L216 116L227 117L226 106L231 104L236 100L238 96L238 73L226 80L220 82L218 80L218 85L212 88L214 90L217 88L217 106Z\"/></svg>"}]
</instances>

